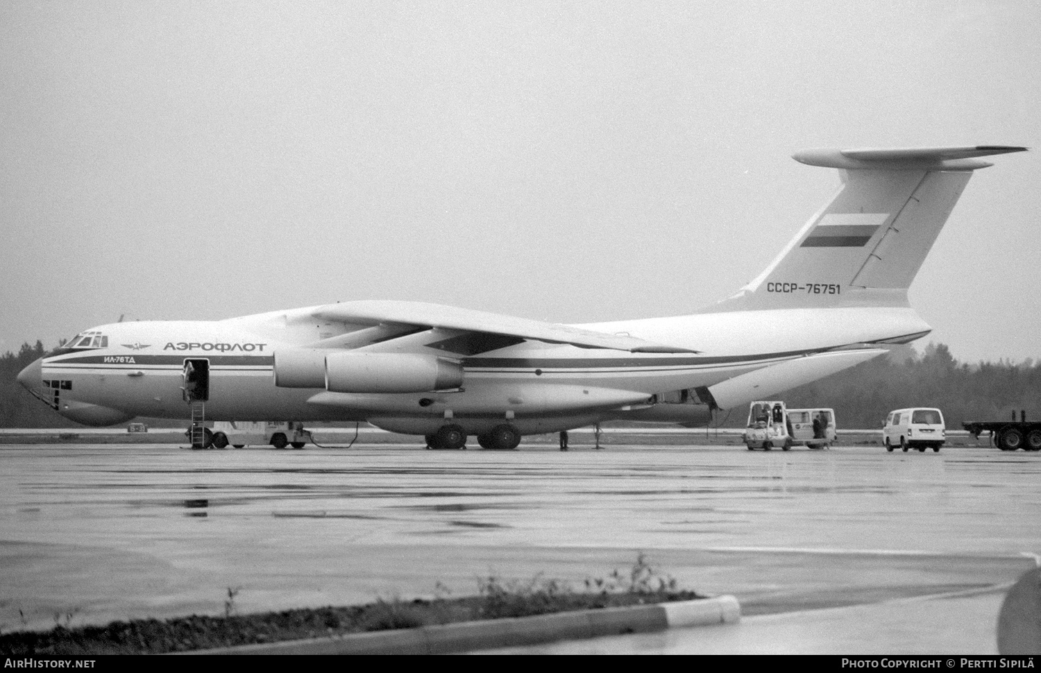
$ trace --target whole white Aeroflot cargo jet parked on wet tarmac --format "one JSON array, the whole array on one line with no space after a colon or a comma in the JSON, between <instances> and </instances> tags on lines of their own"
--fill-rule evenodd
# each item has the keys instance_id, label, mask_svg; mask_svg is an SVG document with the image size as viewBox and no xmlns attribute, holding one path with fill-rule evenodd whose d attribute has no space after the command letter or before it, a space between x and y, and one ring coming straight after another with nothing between
<instances>
[{"instance_id":1,"label":"whole white Aeroflot cargo jet parked on wet tarmac","mask_svg":"<svg viewBox=\"0 0 1041 673\"><path fill-rule=\"evenodd\" d=\"M769 266L689 315L560 325L399 301L102 325L19 381L62 416L367 421L433 448L625 419L685 425L879 356L930 327L908 287L980 157L1020 147L811 150L842 185ZM187 404L185 404L187 403Z\"/></svg>"}]
</instances>

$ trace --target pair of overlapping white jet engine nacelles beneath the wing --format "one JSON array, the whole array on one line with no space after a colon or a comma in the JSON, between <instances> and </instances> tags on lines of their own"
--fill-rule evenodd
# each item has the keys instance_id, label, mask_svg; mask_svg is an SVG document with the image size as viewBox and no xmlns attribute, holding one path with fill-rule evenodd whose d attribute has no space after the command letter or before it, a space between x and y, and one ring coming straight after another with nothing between
<instances>
[{"instance_id":1,"label":"pair of overlapping white jet engine nacelles beneath the wing","mask_svg":"<svg viewBox=\"0 0 1041 673\"><path fill-rule=\"evenodd\" d=\"M458 362L417 353L279 351L275 385L330 392L427 392L462 386Z\"/></svg>"}]
</instances>

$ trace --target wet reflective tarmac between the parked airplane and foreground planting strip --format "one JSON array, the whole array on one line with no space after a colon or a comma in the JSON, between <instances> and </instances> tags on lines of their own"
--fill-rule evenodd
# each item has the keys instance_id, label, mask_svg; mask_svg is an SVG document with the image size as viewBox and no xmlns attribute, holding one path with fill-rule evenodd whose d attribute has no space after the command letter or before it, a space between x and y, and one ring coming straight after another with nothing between
<instances>
[{"instance_id":1,"label":"wet reflective tarmac between the parked airplane and foreground planting strip","mask_svg":"<svg viewBox=\"0 0 1041 673\"><path fill-rule=\"evenodd\" d=\"M581 586L638 551L770 613L997 585L1041 551L1041 457L987 448L0 456L5 628L220 614L232 586L242 612L472 594L489 572Z\"/></svg>"}]
</instances>

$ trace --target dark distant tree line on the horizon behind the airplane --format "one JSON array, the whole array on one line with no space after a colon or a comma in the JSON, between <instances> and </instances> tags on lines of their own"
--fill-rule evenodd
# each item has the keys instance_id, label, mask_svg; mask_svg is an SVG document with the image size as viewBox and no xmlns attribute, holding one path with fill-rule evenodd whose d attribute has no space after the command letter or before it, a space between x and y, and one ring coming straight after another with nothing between
<instances>
[{"instance_id":1,"label":"dark distant tree line on the horizon behind the airplane","mask_svg":"<svg viewBox=\"0 0 1041 673\"><path fill-rule=\"evenodd\" d=\"M0 428L76 428L33 398L19 385L18 373L43 356L44 344L25 343L18 354L0 357ZM913 346L896 346L845 371L777 395L788 407L830 407L839 428L880 428L893 409L936 407L947 428L961 430L966 420L1002 420L1025 409L1027 418L1041 418L1041 362L1026 360L958 362L946 345L930 343L919 354ZM186 412L185 412L186 417ZM738 428L746 409L734 409L722 424Z\"/></svg>"}]
</instances>

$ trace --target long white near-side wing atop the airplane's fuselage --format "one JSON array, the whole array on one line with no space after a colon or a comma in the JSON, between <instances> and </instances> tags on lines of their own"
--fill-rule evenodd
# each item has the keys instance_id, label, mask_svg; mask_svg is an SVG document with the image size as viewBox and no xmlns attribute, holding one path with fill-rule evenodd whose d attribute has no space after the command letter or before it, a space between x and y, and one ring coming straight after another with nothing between
<instances>
[{"instance_id":1,"label":"long white near-side wing atop the airplane's fuselage","mask_svg":"<svg viewBox=\"0 0 1041 673\"><path fill-rule=\"evenodd\" d=\"M609 348L629 353L697 353L635 337L543 322L528 318L473 311L425 302L366 301L328 304L316 309L316 318L364 326L414 326L424 329L459 330L512 336L545 343L568 343L585 348Z\"/></svg>"}]
</instances>

